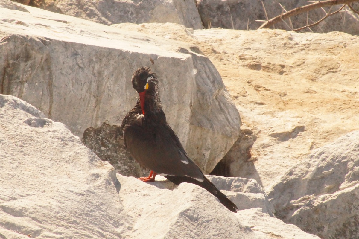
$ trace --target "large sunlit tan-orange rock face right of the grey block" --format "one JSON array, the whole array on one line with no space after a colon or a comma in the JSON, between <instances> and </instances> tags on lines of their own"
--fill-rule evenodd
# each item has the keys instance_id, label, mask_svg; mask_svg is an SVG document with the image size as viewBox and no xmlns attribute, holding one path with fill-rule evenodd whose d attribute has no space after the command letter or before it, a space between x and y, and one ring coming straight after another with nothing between
<instances>
[{"instance_id":1,"label":"large sunlit tan-orange rock face right of the grey block","mask_svg":"<svg viewBox=\"0 0 359 239\"><path fill-rule=\"evenodd\" d=\"M233 168L232 176L259 174L267 191L312 150L359 130L358 36L266 29L194 35L256 136L255 170Z\"/></svg>"}]
</instances>

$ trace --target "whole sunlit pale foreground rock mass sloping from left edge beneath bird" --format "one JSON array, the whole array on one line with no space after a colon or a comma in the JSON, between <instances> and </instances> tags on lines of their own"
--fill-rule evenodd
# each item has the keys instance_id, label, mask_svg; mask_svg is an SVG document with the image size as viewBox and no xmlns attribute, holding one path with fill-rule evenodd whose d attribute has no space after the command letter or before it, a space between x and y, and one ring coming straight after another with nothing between
<instances>
[{"instance_id":1,"label":"whole sunlit pale foreground rock mass sloping from left edge beneath bird","mask_svg":"<svg viewBox=\"0 0 359 239\"><path fill-rule=\"evenodd\" d=\"M318 238L271 216L253 179L210 177L235 214L193 184L171 191L116 175L64 124L10 95L0 95L0 136L1 238Z\"/></svg>"}]
</instances>

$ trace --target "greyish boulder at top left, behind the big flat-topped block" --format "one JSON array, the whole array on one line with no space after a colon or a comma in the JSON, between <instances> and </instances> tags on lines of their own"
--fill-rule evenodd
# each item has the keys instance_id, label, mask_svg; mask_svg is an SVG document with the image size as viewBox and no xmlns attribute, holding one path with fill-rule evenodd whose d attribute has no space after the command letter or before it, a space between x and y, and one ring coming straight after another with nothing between
<instances>
[{"instance_id":1,"label":"greyish boulder at top left, behind the big flat-topped block","mask_svg":"<svg viewBox=\"0 0 359 239\"><path fill-rule=\"evenodd\" d=\"M178 23L202 29L194 0L47 0L30 4L48 11L111 25L116 23Z\"/></svg>"}]
</instances>

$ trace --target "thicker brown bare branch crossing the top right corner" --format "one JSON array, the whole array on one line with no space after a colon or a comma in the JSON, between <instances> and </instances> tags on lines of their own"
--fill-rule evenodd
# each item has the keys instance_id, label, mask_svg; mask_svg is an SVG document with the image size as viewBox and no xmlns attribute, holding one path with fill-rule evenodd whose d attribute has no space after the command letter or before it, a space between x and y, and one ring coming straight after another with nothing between
<instances>
[{"instance_id":1,"label":"thicker brown bare branch crossing the top right corner","mask_svg":"<svg viewBox=\"0 0 359 239\"><path fill-rule=\"evenodd\" d=\"M359 1L359 0L356 0L356 1ZM269 28L271 27L272 25L284 20L284 19L287 19L289 17L292 17L294 15L297 15L297 14L300 14L300 13L304 13L306 11L310 11L310 10L313 10L313 9L317 9L317 8L322 8L322 7L325 7L325 6L333 6L333 5L340 5L340 4L348 4L349 8L352 9L352 7L349 5L350 3L353 3L353 2L356 2L356 1L353 1L353 0L326 0L326 1L317 1L315 3L312 3L312 4L309 4L309 5L305 5L305 6L301 6L299 8L295 8L295 9L292 9L290 11L287 11L283 14L280 14L279 16L275 17L275 18L272 18L272 19L269 19L267 20L265 23L263 23L258 29L261 29L261 28ZM331 15L331 14L330 14ZM328 17L328 16L326 16ZM318 24L318 23L317 23ZM306 26L307 27L307 26Z\"/></svg>"}]
</instances>

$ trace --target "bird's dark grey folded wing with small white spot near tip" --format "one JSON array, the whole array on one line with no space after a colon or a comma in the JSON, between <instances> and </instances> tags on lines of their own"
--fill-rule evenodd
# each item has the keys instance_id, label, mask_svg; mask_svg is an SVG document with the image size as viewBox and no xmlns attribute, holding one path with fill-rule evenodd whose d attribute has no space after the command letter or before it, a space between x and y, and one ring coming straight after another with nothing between
<instances>
[{"instance_id":1,"label":"bird's dark grey folded wing with small white spot near tip","mask_svg":"<svg viewBox=\"0 0 359 239\"><path fill-rule=\"evenodd\" d=\"M131 155L144 167L157 174L187 176L204 180L200 168L188 157L172 128L164 122L128 125L124 138Z\"/></svg>"}]
</instances>

